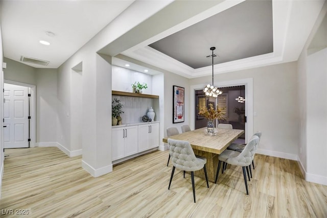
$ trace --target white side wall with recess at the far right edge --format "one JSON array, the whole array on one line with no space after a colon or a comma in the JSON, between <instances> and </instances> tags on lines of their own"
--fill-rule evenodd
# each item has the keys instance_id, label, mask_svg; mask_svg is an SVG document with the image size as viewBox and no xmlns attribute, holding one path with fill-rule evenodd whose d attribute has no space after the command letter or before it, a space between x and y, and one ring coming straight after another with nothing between
<instances>
[{"instance_id":1,"label":"white side wall with recess at the far right edge","mask_svg":"<svg viewBox=\"0 0 327 218\"><path fill-rule=\"evenodd\" d=\"M327 185L327 2L297 65L300 168L307 181Z\"/></svg>"}]
</instances>

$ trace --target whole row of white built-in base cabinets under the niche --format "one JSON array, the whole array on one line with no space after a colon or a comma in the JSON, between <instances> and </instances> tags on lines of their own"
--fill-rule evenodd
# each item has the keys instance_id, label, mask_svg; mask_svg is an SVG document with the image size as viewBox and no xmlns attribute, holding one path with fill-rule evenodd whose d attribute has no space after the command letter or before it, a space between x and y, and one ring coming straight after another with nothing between
<instances>
[{"instance_id":1,"label":"whole row of white built-in base cabinets under the niche","mask_svg":"<svg viewBox=\"0 0 327 218\"><path fill-rule=\"evenodd\" d=\"M151 150L159 146L159 123L114 127L111 140L112 161Z\"/></svg>"}]
</instances>

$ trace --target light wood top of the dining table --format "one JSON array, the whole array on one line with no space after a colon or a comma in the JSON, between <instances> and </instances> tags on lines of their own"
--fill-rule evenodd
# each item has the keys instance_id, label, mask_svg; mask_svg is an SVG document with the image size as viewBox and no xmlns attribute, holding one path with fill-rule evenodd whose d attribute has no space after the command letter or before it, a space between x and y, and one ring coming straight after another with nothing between
<instances>
[{"instance_id":1,"label":"light wood top of the dining table","mask_svg":"<svg viewBox=\"0 0 327 218\"><path fill-rule=\"evenodd\" d=\"M167 138L163 138L162 141L168 143L168 138L189 141L192 148L210 152L214 154L221 154L231 142L235 141L238 137L240 137L244 130L238 129L217 129L218 133L215 136L210 136L206 133L206 127L184 132L179 135L170 136Z\"/></svg>"}]
</instances>

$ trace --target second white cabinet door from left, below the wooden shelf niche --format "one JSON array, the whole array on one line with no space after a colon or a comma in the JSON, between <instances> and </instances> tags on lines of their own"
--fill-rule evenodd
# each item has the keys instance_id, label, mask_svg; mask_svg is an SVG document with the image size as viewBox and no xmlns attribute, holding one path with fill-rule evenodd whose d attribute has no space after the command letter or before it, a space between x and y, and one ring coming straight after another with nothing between
<instances>
[{"instance_id":1,"label":"second white cabinet door from left, below the wooden shelf niche","mask_svg":"<svg viewBox=\"0 0 327 218\"><path fill-rule=\"evenodd\" d=\"M125 157L137 151L137 126L125 127Z\"/></svg>"}]
</instances>

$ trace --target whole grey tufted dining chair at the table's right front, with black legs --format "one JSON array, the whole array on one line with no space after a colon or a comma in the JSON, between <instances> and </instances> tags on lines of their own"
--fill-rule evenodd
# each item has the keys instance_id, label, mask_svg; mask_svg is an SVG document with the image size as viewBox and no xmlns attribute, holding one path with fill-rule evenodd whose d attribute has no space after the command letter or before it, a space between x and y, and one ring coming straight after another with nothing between
<instances>
[{"instance_id":1,"label":"whole grey tufted dining chair at the table's right front, with black legs","mask_svg":"<svg viewBox=\"0 0 327 218\"><path fill-rule=\"evenodd\" d=\"M217 174L216 174L216 180L215 183L217 183L218 175L219 175L219 169L221 162L225 162L231 165L236 166L242 166L243 168L243 176L244 176L244 183L246 188L246 194L249 194L248 188L247 188L247 181L246 181L246 166L251 165L251 162L253 160L255 150L257 148L257 145L259 143L259 137L256 135L253 135L250 139L250 141L246 144L243 151L237 152L232 150L225 150L218 156L218 168L217 168Z\"/></svg>"}]
</instances>

